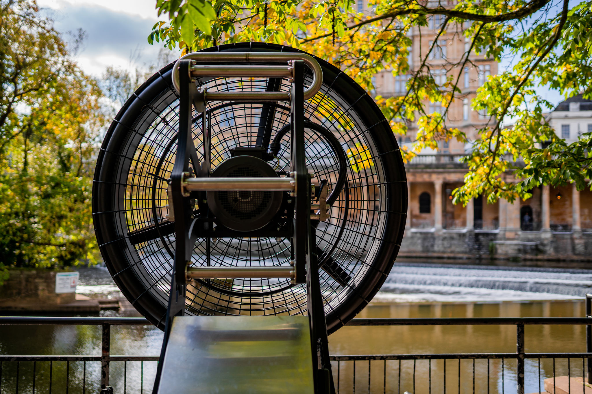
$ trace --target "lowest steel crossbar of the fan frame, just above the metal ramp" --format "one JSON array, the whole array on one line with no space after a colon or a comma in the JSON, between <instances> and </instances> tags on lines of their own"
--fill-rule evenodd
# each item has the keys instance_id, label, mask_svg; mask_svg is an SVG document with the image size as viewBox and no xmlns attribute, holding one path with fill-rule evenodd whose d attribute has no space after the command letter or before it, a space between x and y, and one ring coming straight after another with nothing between
<instances>
[{"instance_id":1,"label":"lowest steel crossbar of the fan frame, just above the metal ramp","mask_svg":"<svg viewBox=\"0 0 592 394\"><path fill-rule=\"evenodd\" d=\"M188 281L215 278L294 278L294 267L188 267L185 276Z\"/></svg>"}]
</instances>

